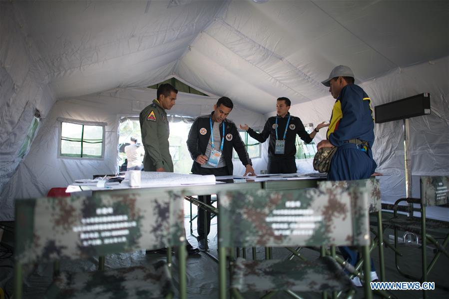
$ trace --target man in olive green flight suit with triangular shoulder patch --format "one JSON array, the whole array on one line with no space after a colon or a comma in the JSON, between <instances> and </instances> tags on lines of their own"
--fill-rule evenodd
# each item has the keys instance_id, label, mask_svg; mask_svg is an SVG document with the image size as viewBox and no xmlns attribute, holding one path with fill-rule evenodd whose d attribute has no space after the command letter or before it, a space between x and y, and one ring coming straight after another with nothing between
<instances>
[{"instance_id":1,"label":"man in olive green flight suit with triangular shoulder patch","mask_svg":"<svg viewBox=\"0 0 449 299\"><path fill-rule=\"evenodd\" d=\"M173 172L173 161L169 151L167 113L176 101L178 90L168 83L161 84L157 88L157 99L151 105L146 106L139 115L140 131L142 134L142 144L145 149L143 156L144 171ZM187 238L186 238L187 239ZM187 253L197 255L198 248L193 248L187 242ZM147 253L165 254L166 248L147 251Z\"/></svg>"}]
</instances>

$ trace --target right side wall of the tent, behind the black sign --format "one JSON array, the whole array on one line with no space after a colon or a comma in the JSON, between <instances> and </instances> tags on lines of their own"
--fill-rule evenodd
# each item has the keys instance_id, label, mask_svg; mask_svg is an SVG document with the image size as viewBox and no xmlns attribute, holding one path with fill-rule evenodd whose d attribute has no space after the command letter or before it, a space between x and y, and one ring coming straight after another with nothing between
<instances>
[{"instance_id":1,"label":"right side wall of the tent, behind the black sign","mask_svg":"<svg viewBox=\"0 0 449 299\"><path fill-rule=\"evenodd\" d=\"M355 75L357 77L357 73ZM410 119L414 197L420 197L419 176L449 175L448 82L449 56L446 56L411 67L398 68L385 76L361 84L371 97L373 108L423 92L431 94L431 114ZM326 96L292 105L290 112L299 116L303 123L312 122L316 126L322 121L329 121L334 102L332 96ZM376 171L386 175L380 178L382 199L395 202L406 197L403 121L376 124L375 136L373 154L378 164ZM325 129L317 134L315 143L323 138L326 138ZM301 163L311 167L312 159ZM428 209L428 213L429 217L449 221L449 209Z\"/></svg>"}]
</instances>

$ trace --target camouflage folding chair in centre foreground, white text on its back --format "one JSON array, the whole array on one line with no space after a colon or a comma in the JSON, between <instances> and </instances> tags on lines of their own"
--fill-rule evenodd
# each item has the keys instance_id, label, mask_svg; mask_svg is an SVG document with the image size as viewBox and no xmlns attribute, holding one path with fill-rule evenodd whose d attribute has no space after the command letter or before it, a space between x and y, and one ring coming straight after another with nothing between
<instances>
[{"instance_id":1,"label":"camouflage folding chair in centre foreground, white text on its back","mask_svg":"<svg viewBox=\"0 0 449 299\"><path fill-rule=\"evenodd\" d=\"M321 246L314 261L238 258L230 262L232 294L279 291L354 292L349 277L337 262L324 256L324 246L362 246L369 256L368 192L365 188L303 189L291 191L233 191L220 194L219 202L220 298L226 298L227 248ZM334 250L332 250L335 252ZM370 263L364 263L369 281ZM369 284L366 298L372 298Z\"/></svg>"}]
</instances>

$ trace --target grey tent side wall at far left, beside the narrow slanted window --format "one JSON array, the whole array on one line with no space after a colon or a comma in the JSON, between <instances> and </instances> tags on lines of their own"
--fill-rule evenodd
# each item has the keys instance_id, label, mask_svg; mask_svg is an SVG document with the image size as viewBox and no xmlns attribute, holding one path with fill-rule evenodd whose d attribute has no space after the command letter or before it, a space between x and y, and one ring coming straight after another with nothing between
<instances>
[{"instance_id":1,"label":"grey tent side wall at far left, beside the narrow slanted window","mask_svg":"<svg viewBox=\"0 0 449 299\"><path fill-rule=\"evenodd\" d=\"M45 65L27 39L20 12L0 3L0 192L17 169L17 157L35 110L44 116L54 103ZM24 188L24 186L22 186ZM0 219L10 208L0 199ZM10 213L10 212L7 212Z\"/></svg>"}]
</instances>

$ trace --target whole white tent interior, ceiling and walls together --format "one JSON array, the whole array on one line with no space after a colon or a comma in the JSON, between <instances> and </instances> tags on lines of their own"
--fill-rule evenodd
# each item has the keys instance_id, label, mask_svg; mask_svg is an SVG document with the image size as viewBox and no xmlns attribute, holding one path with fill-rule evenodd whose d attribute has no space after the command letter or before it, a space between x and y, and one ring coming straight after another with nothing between
<instances>
[{"instance_id":1,"label":"whole white tent interior, ceiling and walls together","mask_svg":"<svg viewBox=\"0 0 449 299\"><path fill-rule=\"evenodd\" d=\"M338 64L373 105L428 92L432 114L410 120L414 194L420 175L449 175L447 0L1 1L0 22L0 221L14 218L15 198L113 173L119 118L171 77L210 96L180 93L170 113L207 114L228 96L230 118L251 127L275 114L279 96L304 123L329 120L334 100L320 82ZM36 109L38 131L18 156ZM58 157L61 118L106 123L104 158ZM375 126L385 201L405 196L402 125ZM266 169L264 154L253 162ZM449 221L447 209L429 215Z\"/></svg>"}]
</instances>

